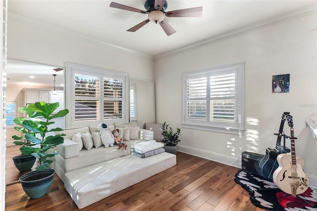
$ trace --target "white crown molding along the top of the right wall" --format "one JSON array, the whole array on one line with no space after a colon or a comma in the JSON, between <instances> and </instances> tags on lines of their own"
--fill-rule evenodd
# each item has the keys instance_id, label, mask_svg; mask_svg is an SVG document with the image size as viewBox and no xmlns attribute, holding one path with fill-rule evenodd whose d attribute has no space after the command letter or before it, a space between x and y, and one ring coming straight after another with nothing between
<instances>
[{"instance_id":1,"label":"white crown molding along the top of the right wall","mask_svg":"<svg viewBox=\"0 0 317 211\"><path fill-rule=\"evenodd\" d=\"M192 44L177 48L177 49L169 51L167 53L162 53L162 54L156 55L156 56L154 56L154 59L164 58L164 57L168 57L171 55L176 55L176 54L179 54L179 53L182 53L185 51L193 50L195 48L199 48L199 47L209 45L209 44L212 44L215 42L220 42L223 40L234 38L234 37L237 37L237 36L249 33L249 32L260 30L260 29L263 29L263 28L266 28L269 26L280 24L280 23L283 23L286 21L290 21L293 19L297 19L300 17L311 15L314 13L317 13L317 4L316 3L313 3L309 6L302 7L301 9L298 9L296 11L287 12L287 13L284 13L281 15L277 15L277 16L265 19L263 21L259 21L257 23L249 24L249 25L246 25L244 27L240 27L240 28L237 28L237 29L234 29L234 30L210 37L210 38L203 40L203 41L194 42Z\"/></svg>"}]
</instances>

